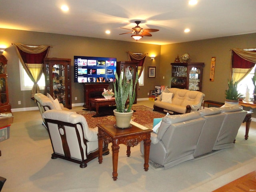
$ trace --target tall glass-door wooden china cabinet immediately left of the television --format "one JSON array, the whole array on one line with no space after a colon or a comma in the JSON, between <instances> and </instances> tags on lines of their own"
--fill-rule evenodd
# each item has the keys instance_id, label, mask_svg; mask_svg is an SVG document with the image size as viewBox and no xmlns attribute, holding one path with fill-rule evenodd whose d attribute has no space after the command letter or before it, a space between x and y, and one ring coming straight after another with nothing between
<instances>
[{"instance_id":1,"label":"tall glass-door wooden china cabinet immediately left of the television","mask_svg":"<svg viewBox=\"0 0 256 192\"><path fill-rule=\"evenodd\" d=\"M71 59L44 58L45 92L58 99L66 108L72 108Z\"/></svg>"}]
</instances>

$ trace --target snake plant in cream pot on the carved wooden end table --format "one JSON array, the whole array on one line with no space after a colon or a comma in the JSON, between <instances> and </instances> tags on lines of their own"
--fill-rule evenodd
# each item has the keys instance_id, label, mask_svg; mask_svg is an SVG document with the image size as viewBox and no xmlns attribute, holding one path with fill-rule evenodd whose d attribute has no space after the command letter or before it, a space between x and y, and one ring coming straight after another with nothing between
<instances>
[{"instance_id":1,"label":"snake plant in cream pot on the carved wooden end table","mask_svg":"<svg viewBox=\"0 0 256 192\"><path fill-rule=\"evenodd\" d=\"M114 92L116 100L116 109L114 115L116 118L116 128L130 128L130 120L133 114L132 104L136 97L136 84L138 82L138 73L136 72L136 79L133 82L132 78L128 79L126 76L115 74ZM127 101L129 98L129 101Z\"/></svg>"}]
</instances>

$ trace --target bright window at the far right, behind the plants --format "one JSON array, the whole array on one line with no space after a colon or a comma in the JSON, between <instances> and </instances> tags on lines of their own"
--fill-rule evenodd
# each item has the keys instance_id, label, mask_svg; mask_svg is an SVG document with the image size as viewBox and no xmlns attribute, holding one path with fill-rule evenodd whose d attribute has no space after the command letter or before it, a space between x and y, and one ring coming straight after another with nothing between
<instances>
[{"instance_id":1,"label":"bright window at the far right, behind the plants","mask_svg":"<svg viewBox=\"0 0 256 192\"><path fill-rule=\"evenodd\" d=\"M256 66L254 66L254 68L252 68L250 73L238 83L237 90L239 93L243 94L243 97L245 97L247 87L248 89L250 89L250 98L253 97L252 94L253 94L254 86L252 83L252 76L254 76L255 67Z\"/></svg>"}]
</instances>

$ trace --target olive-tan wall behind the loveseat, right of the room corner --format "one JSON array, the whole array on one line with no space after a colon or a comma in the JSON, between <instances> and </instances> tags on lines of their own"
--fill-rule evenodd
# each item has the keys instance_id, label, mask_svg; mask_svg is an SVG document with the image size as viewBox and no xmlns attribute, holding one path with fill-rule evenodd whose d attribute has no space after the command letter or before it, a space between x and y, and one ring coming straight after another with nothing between
<instances>
[{"instance_id":1,"label":"olive-tan wall behind the loveseat, right of the room corner","mask_svg":"<svg viewBox=\"0 0 256 192\"><path fill-rule=\"evenodd\" d=\"M178 44L161 46L161 84L170 86L170 63L174 62L177 54L181 56L188 52L190 62L204 62L202 92L204 100L224 102L225 90L228 88L230 72L231 48L255 48L256 33L229 36ZM214 82L210 82L211 58L216 57ZM162 78L165 76L165 79Z\"/></svg>"}]
</instances>

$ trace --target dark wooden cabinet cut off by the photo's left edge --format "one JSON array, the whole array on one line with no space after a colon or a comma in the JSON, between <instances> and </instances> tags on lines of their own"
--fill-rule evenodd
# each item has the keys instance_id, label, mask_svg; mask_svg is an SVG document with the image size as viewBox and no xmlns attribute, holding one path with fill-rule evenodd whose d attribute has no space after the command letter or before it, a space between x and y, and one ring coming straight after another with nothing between
<instances>
[{"instance_id":1,"label":"dark wooden cabinet cut off by the photo's left edge","mask_svg":"<svg viewBox=\"0 0 256 192\"><path fill-rule=\"evenodd\" d=\"M7 84L7 59L4 55L0 55L0 113L11 112L11 105L8 96Z\"/></svg>"}]
</instances>

